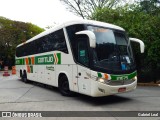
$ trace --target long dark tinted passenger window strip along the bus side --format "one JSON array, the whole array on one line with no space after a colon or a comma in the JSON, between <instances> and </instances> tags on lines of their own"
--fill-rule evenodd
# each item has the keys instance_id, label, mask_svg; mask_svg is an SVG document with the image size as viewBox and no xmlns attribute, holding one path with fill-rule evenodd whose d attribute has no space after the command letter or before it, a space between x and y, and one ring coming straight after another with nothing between
<instances>
[{"instance_id":1,"label":"long dark tinted passenger window strip along the bus side","mask_svg":"<svg viewBox=\"0 0 160 120\"><path fill-rule=\"evenodd\" d=\"M55 50L68 53L63 29L18 47L16 56L22 57Z\"/></svg>"}]
</instances>

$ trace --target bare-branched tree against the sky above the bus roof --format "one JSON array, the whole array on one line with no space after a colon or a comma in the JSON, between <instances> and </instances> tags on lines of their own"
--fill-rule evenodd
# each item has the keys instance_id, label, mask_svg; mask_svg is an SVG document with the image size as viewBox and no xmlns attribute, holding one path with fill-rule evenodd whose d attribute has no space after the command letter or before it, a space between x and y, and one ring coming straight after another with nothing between
<instances>
[{"instance_id":1,"label":"bare-branched tree against the sky above the bus roof","mask_svg":"<svg viewBox=\"0 0 160 120\"><path fill-rule=\"evenodd\" d=\"M69 11L84 18L91 18L96 9L112 8L122 0L60 0Z\"/></svg>"}]
</instances>

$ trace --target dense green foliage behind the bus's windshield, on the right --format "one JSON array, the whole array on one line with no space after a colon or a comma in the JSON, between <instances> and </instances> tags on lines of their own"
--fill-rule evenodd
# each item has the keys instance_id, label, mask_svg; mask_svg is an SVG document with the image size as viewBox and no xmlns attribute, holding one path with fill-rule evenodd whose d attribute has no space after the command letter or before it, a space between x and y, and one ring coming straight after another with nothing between
<instances>
[{"instance_id":1,"label":"dense green foliage behind the bus's windshield, on the right","mask_svg":"<svg viewBox=\"0 0 160 120\"><path fill-rule=\"evenodd\" d=\"M142 9L143 8L143 9ZM154 7L155 8L155 7ZM148 9L147 9L148 10ZM154 11L160 11L159 7ZM123 27L130 37L145 43L145 53L140 55L139 47L133 44L140 78L160 79L160 12L146 12L141 4L126 5L115 9L97 9L92 19ZM143 63L143 64L142 64Z\"/></svg>"}]
</instances>

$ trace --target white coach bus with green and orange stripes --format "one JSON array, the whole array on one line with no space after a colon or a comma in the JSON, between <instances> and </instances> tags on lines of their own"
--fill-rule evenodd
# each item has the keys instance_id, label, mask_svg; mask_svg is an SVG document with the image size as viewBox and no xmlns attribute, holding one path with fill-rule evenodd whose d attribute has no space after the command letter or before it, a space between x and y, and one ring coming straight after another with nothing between
<instances>
[{"instance_id":1,"label":"white coach bus with green and orange stripes","mask_svg":"<svg viewBox=\"0 0 160 120\"><path fill-rule=\"evenodd\" d=\"M46 30L16 47L17 76L58 87L64 96L92 97L136 89L137 71L131 41L119 26L75 20Z\"/></svg>"}]
</instances>

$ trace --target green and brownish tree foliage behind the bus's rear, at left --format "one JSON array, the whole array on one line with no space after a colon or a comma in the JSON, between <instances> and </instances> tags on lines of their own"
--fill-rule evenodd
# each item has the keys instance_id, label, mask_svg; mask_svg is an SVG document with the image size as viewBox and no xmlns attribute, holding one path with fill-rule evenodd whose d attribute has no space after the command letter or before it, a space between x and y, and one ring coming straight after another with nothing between
<instances>
[{"instance_id":1,"label":"green and brownish tree foliage behind the bus's rear, at left","mask_svg":"<svg viewBox=\"0 0 160 120\"><path fill-rule=\"evenodd\" d=\"M13 65L16 46L42 31L44 29L31 23L0 17L0 60L4 65Z\"/></svg>"}]
</instances>

